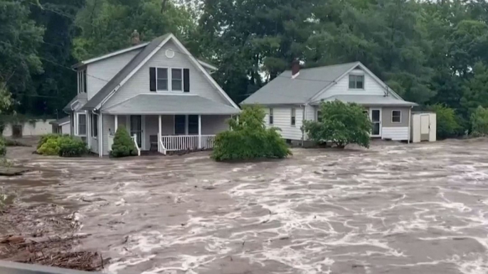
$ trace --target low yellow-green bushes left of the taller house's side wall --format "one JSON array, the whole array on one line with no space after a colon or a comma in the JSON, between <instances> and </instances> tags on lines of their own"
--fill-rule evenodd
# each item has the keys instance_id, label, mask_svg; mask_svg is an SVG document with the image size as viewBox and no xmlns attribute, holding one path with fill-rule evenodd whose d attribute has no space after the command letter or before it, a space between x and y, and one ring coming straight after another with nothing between
<instances>
[{"instance_id":1,"label":"low yellow-green bushes left of the taller house's side wall","mask_svg":"<svg viewBox=\"0 0 488 274\"><path fill-rule=\"evenodd\" d=\"M85 142L73 136L46 134L39 140L37 153L61 157L80 157L87 153L87 147Z\"/></svg>"}]
</instances>

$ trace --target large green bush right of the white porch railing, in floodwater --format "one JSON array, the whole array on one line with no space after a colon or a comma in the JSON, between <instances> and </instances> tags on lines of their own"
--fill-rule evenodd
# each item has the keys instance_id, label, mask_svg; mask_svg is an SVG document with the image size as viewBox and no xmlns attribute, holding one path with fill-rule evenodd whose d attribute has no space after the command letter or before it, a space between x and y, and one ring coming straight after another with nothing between
<instances>
[{"instance_id":1,"label":"large green bush right of the white porch railing, in floodwater","mask_svg":"<svg viewBox=\"0 0 488 274\"><path fill-rule=\"evenodd\" d=\"M240 116L228 121L231 130L217 135L212 158L250 160L291 155L279 129L266 128L264 119L265 112L259 106L245 106Z\"/></svg>"}]
</instances>

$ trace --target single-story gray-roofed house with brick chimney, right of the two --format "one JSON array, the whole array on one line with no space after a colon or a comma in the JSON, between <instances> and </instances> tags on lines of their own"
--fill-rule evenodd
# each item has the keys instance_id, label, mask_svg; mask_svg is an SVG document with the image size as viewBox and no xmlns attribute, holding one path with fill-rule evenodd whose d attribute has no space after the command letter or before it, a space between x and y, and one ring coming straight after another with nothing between
<instances>
[{"instance_id":1,"label":"single-story gray-roofed house with brick chimney, right of the two","mask_svg":"<svg viewBox=\"0 0 488 274\"><path fill-rule=\"evenodd\" d=\"M266 84L241 105L266 107L268 126L281 128L282 138L307 141L304 120L317 121L320 102L340 100L364 106L373 123L371 137L410 139L410 114L416 104L406 102L361 62L300 70L298 62Z\"/></svg>"}]
</instances>

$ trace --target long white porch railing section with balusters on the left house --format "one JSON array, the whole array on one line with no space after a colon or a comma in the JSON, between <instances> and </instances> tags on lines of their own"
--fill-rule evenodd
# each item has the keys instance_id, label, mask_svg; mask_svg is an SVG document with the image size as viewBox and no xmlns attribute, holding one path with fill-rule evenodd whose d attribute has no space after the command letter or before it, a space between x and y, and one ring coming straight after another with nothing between
<instances>
[{"instance_id":1,"label":"long white porch railing section with balusters on the left house","mask_svg":"<svg viewBox=\"0 0 488 274\"><path fill-rule=\"evenodd\" d=\"M208 149L213 148L215 138L215 135L161 136L161 147L167 151Z\"/></svg>"}]
</instances>

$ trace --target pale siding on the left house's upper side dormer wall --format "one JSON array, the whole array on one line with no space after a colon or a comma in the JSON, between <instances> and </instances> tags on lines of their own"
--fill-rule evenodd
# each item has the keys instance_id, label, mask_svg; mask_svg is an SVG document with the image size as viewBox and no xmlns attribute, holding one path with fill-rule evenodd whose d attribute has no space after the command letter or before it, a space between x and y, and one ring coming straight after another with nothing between
<instances>
[{"instance_id":1,"label":"pale siding on the left house's upper side dormer wall","mask_svg":"<svg viewBox=\"0 0 488 274\"><path fill-rule=\"evenodd\" d=\"M132 50L87 65L87 97L91 99L117 72L122 70L141 49ZM95 77L92 77L92 76ZM100 78L100 79L98 79ZM105 80L105 81L104 81Z\"/></svg>"}]
</instances>

